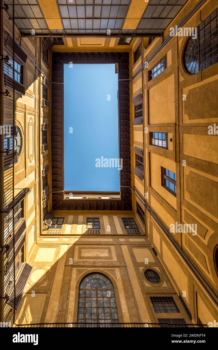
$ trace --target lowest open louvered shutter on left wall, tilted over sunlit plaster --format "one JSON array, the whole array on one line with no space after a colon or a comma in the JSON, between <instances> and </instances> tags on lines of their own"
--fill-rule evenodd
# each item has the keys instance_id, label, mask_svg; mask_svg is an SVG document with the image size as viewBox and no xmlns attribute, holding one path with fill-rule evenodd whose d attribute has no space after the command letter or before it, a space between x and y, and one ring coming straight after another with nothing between
<instances>
[{"instance_id":1,"label":"lowest open louvered shutter on left wall, tilted over sunlit plaster","mask_svg":"<svg viewBox=\"0 0 218 350\"><path fill-rule=\"evenodd\" d=\"M17 306L22 298L23 292L24 292L24 288L27 285L30 273L32 271L33 267L30 266L29 264L27 264L27 262L25 262L21 273L19 274L19 277L17 278L16 282L15 282L15 309L17 309ZM12 307L14 307L14 290L12 292L12 294L10 295L8 304Z\"/></svg>"}]
</instances>

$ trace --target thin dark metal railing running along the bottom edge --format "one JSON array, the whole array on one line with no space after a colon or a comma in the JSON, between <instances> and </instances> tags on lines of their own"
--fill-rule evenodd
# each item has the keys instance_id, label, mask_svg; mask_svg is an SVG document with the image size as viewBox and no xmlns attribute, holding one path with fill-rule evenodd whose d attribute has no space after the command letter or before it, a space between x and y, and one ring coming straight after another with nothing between
<instances>
[{"instance_id":1,"label":"thin dark metal railing running along the bottom edge","mask_svg":"<svg viewBox=\"0 0 218 350\"><path fill-rule=\"evenodd\" d=\"M168 323L164 325L164 323L29 323L29 324L14 324L14 327L19 328L153 328L153 327L171 327L177 328L181 327L180 325L171 324L169 326ZM183 324L182 327L208 327L206 324Z\"/></svg>"}]
</instances>

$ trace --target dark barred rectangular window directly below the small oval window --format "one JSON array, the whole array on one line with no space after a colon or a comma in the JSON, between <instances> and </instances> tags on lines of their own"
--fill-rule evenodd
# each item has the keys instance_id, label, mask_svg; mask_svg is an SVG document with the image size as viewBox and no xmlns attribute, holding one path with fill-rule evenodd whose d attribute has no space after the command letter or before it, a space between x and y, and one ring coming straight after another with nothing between
<instances>
[{"instance_id":1,"label":"dark barred rectangular window directly below the small oval window","mask_svg":"<svg viewBox=\"0 0 218 350\"><path fill-rule=\"evenodd\" d=\"M172 296L150 296L150 300L157 314L180 312Z\"/></svg>"}]
</instances>

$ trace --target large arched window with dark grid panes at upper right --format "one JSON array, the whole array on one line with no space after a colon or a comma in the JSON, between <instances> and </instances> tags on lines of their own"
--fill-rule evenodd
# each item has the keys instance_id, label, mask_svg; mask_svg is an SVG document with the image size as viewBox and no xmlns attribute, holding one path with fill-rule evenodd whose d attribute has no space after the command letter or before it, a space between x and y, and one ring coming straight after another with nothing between
<instances>
[{"instance_id":1,"label":"large arched window with dark grid panes at upper right","mask_svg":"<svg viewBox=\"0 0 218 350\"><path fill-rule=\"evenodd\" d=\"M213 11L189 36L183 51L183 64L195 74L218 62L218 9Z\"/></svg>"}]
</instances>

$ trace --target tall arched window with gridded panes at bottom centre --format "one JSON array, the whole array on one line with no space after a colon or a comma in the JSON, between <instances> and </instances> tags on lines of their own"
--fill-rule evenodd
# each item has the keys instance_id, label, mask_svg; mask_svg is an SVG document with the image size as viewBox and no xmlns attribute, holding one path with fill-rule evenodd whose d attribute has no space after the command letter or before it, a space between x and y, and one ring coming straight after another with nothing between
<instances>
[{"instance_id":1,"label":"tall arched window with gridded panes at bottom centre","mask_svg":"<svg viewBox=\"0 0 218 350\"><path fill-rule=\"evenodd\" d=\"M92 273L80 282L77 322L82 323L78 327L113 327L104 323L119 323L114 288L106 276Z\"/></svg>"}]
</instances>

